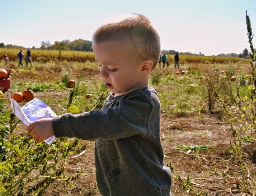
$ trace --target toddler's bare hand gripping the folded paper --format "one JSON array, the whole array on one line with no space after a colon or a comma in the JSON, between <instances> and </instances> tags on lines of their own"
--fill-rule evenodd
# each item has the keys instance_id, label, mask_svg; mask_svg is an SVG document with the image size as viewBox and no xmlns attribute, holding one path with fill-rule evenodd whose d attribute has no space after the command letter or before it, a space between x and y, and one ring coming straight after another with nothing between
<instances>
[{"instance_id":1,"label":"toddler's bare hand gripping the folded paper","mask_svg":"<svg viewBox=\"0 0 256 196\"><path fill-rule=\"evenodd\" d=\"M32 122L27 130L33 136L34 140L42 142L54 135L52 118L44 118Z\"/></svg>"}]
</instances>

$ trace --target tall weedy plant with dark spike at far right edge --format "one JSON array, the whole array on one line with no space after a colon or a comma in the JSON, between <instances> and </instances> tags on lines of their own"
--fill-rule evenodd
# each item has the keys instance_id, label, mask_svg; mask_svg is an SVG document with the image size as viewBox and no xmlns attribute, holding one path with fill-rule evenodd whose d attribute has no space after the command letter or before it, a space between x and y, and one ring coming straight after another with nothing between
<instances>
[{"instance_id":1,"label":"tall weedy plant with dark spike at far right edge","mask_svg":"<svg viewBox=\"0 0 256 196\"><path fill-rule=\"evenodd\" d=\"M241 173L241 182L239 183L240 189L242 192L247 194L252 193L253 188L256 186L254 181L250 181L247 179L246 169L249 173L249 169L244 162L243 157L243 141L244 142L254 142L254 138L256 136L256 78L255 78L255 63L254 63L254 48L252 45L252 29L250 24L250 18L247 15L246 11L246 24L247 24L247 34L250 44L250 65L251 65L251 74L247 75L250 79L251 85L247 88L247 93L249 96L241 96L239 89L237 91L237 97L234 97L234 102L236 103L237 112L234 112L232 108L226 104L221 97L216 92L216 96L220 101L222 107L226 111L229 116L229 124L232 132L232 139L230 140L230 153L234 155L236 158L237 164L240 168Z\"/></svg>"}]
</instances>

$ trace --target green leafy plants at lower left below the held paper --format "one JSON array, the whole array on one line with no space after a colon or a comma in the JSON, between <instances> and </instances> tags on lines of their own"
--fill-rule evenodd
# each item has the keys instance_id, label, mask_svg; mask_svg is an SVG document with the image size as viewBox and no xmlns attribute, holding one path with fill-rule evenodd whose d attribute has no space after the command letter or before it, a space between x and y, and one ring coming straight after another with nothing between
<instances>
[{"instance_id":1,"label":"green leafy plants at lower left below the held paper","mask_svg":"<svg viewBox=\"0 0 256 196\"><path fill-rule=\"evenodd\" d=\"M0 101L0 195L41 195L56 180L63 182L66 192L67 184L79 177L79 173L66 175L67 156L80 153L87 145L78 139L56 139L48 145L29 134L18 134L19 120L6 104Z\"/></svg>"}]
</instances>

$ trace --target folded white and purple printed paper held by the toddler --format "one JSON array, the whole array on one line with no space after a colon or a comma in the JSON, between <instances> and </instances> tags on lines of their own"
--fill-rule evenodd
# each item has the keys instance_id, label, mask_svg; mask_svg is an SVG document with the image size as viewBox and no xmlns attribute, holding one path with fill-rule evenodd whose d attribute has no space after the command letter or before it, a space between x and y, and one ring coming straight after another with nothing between
<instances>
[{"instance_id":1,"label":"folded white and purple printed paper held by the toddler","mask_svg":"<svg viewBox=\"0 0 256 196\"><path fill-rule=\"evenodd\" d=\"M30 122L34 122L42 118L53 118L57 116L46 103L38 98L34 98L21 108L15 100L10 99L10 101L12 113L15 114L15 116L17 116L27 126L30 124ZM50 144L54 139L55 136L53 135L52 137L46 139L45 142Z\"/></svg>"}]
</instances>

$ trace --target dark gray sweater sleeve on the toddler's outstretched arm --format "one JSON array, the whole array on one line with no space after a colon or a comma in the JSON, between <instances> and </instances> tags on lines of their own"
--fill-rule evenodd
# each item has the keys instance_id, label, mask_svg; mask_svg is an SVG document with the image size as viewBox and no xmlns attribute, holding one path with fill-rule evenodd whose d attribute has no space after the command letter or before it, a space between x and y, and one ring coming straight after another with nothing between
<instances>
[{"instance_id":1,"label":"dark gray sweater sleeve on the toddler's outstretched arm","mask_svg":"<svg viewBox=\"0 0 256 196\"><path fill-rule=\"evenodd\" d=\"M141 134L148 134L147 120L153 105L147 98L136 93L121 99L106 112L99 110L72 115L64 114L53 118L56 137L76 137L83 140L115 140Z\"/></svg>"}]
</instances>

